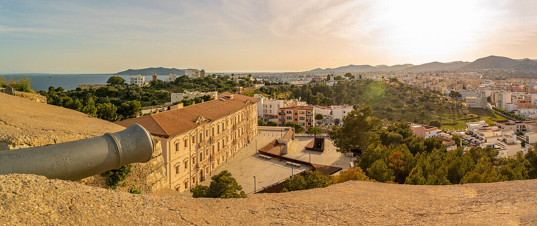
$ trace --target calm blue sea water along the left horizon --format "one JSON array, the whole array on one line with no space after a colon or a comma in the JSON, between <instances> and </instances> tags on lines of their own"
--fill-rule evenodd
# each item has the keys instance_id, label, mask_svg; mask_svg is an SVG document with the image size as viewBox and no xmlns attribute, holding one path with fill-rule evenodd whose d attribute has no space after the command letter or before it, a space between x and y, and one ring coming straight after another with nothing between
<instances>
[{"instance_id":1,"label":"calm blue sea water along the left horizon","mask_svg":"<svg viewBox=\"0 0 537 226\"><path fill-rule=\"evenodd\" d=\"M83 84L106 84L108 78L113 74L0 74L5 78L20 78L28 76L32 79L32 89L35 92L40 90L48 91L49 86L62 87L65 90L76 89L78 85ZM50 77L50 78L49 78ZM130 76L120 76L129 82ZM151 80L151 76L146 77L146 81ZM158 76L158 79L164 80L167 76Z\"/></svg>"}]
</instances>

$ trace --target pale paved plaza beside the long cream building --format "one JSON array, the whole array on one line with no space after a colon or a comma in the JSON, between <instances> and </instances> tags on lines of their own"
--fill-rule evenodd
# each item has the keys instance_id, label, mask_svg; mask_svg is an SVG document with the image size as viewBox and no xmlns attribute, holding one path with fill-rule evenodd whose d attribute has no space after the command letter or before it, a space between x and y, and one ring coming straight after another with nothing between
<instances>
[{"instance_id":1,"label":"pale paved plaza beside the long cream building","mask_svg":"<svg viewBox=\"0 0 537 226\"><path fill-rule=\"evenodd\" d=\"M291 169L291 165L287 165L285 163L286 161L279 161L276 158L266 160L256 154L257 149L265 146L275 138L281 138L284 134L285 132L281 131L264 130L259 132L250 144L241 148L233 157L230 157L226 163L214 169L212 175L218 174L222 170L228 170L242 186L243 191L250 193L254 190L254 176L256 177L255 188L259 190L263 186L288 178L292 175L292 171L296 173L300 170L308 169L306 165L302 165L299 168L293 167L293 169ZM336 152L336 147L333 146L332 141L329 139L325 140L324 153L304 149L304 146L306 146L311 139L313 139L313 137L295 137L295 140L292 142L288 149L288 153L285 156L306 162L308 162L311 157L312 163L331 165L343 169L349 168L350 158ZM208 186L209 183L211 183L211 179L208 177L207 180L201 184Z\"/></svg>"}]
</instances>

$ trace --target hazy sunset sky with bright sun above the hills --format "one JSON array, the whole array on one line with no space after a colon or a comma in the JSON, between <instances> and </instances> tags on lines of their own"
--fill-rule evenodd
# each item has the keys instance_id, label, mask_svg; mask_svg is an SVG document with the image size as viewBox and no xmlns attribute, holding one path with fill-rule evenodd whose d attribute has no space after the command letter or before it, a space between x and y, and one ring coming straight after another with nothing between
<instances>
[{"instance_id":1,"label":"hazy sunset sky with bright sun above the hills","mask_svg":"<svg viewBox=\"0 0 537 226\"><path fill-rule=\"evenodd\" d=\"M537 59L537 1L0 0L0 73Z\"/></svg>"}]
</instances>

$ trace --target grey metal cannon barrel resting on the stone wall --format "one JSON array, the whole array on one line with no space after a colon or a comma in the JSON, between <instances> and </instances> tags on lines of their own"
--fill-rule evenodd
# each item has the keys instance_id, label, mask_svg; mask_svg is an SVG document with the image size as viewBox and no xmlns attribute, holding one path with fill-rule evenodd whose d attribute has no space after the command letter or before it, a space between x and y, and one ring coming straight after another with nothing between
<instances>
[{"instance_id":1,"label":"grey metal cannon barrel resting on the stone wall","mask_svg":"<svg viewBox=\"0 0 537 226\"><path fill-rule=\"evenodd\" d=\"M0 174L35 174L78 180L135 163L153 155L151 134L138 124L99 137L54 145L0 150Z\"/></svg>"}]
</instances>

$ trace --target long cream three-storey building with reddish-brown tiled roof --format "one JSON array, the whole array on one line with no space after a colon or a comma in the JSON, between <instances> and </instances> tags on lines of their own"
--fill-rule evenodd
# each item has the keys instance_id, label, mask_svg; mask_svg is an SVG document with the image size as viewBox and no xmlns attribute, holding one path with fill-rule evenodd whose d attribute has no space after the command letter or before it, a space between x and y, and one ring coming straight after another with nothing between
<instances>
[{"instance_id":1,"label":"long cream three-storey building with reddish-brown tiled roof","mask_svg":"<svg viewBox=\"0 0 537 226\"><path fill-rule=\"evenodd\" d=\"M218 99L118 122L159 137L170 188L190 190L257 135L259 99L222 93Z\"/></svg>"}]
</instances>

